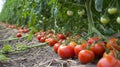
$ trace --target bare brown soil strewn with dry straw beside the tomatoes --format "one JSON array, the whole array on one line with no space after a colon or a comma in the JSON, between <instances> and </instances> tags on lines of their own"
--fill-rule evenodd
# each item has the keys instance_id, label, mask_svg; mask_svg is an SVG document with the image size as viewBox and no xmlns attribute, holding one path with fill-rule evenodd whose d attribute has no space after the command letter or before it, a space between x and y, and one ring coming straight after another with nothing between
<instances>
[{"instance_id":1,"label":"bare brown soil strewn with dry straw beside the tomatoes","mask_svg":"<svg viewBox=\"0 0 120 67\"><path fill-rule=\"evenodd\" d=\"M0 24L0 40L14 38L16 33L17 30L6 29L4 24ZM31 41L28 41L27 38L21 38L0 42L0 48L6 43L14 46L18 43L34 45L40 42L35 37ZM36 47L19 53L9 53L6 56L11 59L1 62L0 67L96 67L96 61L83 65L77 58L62 60L49 46Z\"/></svg>"}]
</instances>

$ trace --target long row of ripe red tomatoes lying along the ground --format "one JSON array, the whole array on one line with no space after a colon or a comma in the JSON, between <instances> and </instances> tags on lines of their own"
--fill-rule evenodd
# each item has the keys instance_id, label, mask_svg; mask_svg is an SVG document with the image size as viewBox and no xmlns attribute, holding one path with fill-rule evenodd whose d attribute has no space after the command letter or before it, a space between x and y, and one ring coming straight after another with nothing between
<instances>
[{"instance_id":1,"label":"long row of ripe red tomatoes lying along the ground","mask_svg":"<svg viewBox=\"0 0 120 67\"><path fill-rule=\"evenodd\" d=\"M15 28L10 25L10 28ZM22 37L22 33L28 33L27 28L17 28L16 37ZM80 35L71 36L69 32L55 33L54 30L37 32L34 34L41 43L48 43L50 47L62 59L77 57L80 63L87 64L99 59L97 67L119 67L120 46L117 38L109 38L103 41L100 37L83 39Z\"/></svg>"}]
</instances>

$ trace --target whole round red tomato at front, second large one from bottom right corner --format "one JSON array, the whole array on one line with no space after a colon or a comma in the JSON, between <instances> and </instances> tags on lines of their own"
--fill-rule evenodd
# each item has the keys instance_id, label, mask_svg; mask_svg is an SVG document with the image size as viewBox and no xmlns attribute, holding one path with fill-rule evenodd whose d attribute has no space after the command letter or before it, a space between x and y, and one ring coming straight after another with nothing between
<instances>
[{"instance_id":1,"label":"whole round red tomato at front, second large one from bottom right corner","mask_svg":"<svg viewBox=\"0 0 120 67\"><path fill-rule=\"evenodd\" d=\"M78 59L82 64L87 64L94 60L94 53L91 50L81 50L78 54Z\"/></svg>"}]
</instances>

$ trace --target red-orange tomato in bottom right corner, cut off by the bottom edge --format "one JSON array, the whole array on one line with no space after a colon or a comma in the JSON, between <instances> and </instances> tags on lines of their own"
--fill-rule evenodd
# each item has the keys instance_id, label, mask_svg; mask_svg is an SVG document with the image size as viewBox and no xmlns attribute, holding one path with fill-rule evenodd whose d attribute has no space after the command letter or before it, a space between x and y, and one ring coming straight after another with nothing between
<instances>
[{"instance_id":1,"label":"red-orange tomato in bottom right corner, cut off by the bottom edge","mask_svg":"<svg viewBox=\"0 0 120 67\"><path fill-rule=\"evenodd\" d=\"M101 58L97 63L97 67L117 67L117 65L118 65L117 59L110 55Z\"/></svg>"}]
</instances>

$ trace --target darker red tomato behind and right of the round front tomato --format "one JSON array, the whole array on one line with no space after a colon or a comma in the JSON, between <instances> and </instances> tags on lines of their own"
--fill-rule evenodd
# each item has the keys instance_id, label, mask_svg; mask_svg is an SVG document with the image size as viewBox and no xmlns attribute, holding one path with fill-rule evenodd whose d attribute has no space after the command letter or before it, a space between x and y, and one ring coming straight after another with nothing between
<instances>
[{"instance_id":1,"label":"darker red tomato behind and right of the round front tomato","mask_svg":"<svg viewBox=\"0 0 120 67\"><path fill-rule=\"evenodd\" d=\"M102 57L103 53L105 52L104 42L99 42L91 47L91 50L95 53L96 57Z\"/></svg>"}]
</instances>

